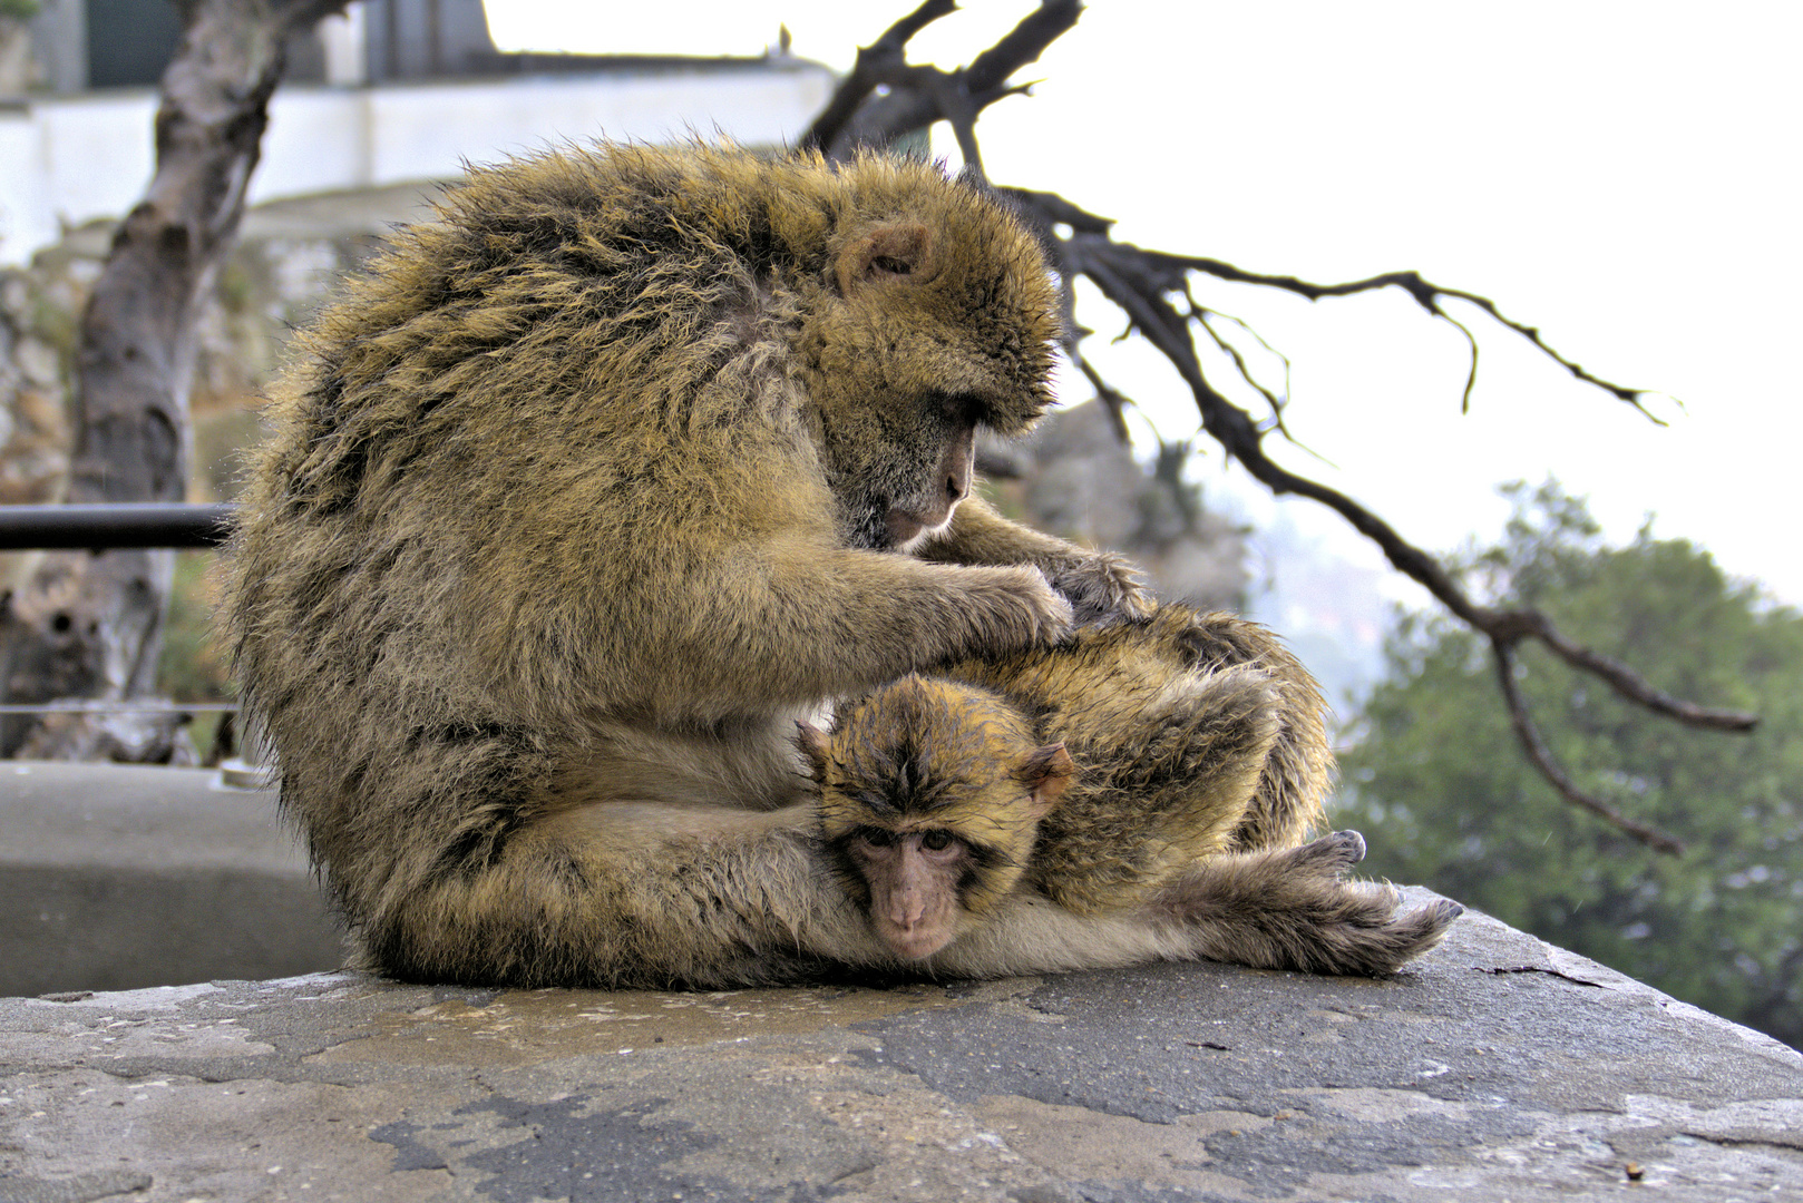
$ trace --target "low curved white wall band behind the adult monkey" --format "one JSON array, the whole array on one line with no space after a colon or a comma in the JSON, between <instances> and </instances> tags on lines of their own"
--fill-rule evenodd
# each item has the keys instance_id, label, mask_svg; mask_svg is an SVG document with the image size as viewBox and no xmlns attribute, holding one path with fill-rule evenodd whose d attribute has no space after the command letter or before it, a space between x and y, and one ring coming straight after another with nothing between
<instances>
[{"instance_id":1,"label":"low curved white wall band behind the adult monkey","mask_svg":"<svg viewBox=\"0 0 1803 1203\"><path fill-rule=\"evenodd\" d=\"M251 200L449 179L487 162L595 137L667 141L716 130L793 141L826 105L824 67L283 88L270 103ZM23 263L65 225L121 216L153 166L148 90L0 108L0 263Z\"/></svg>"}]
</instances>

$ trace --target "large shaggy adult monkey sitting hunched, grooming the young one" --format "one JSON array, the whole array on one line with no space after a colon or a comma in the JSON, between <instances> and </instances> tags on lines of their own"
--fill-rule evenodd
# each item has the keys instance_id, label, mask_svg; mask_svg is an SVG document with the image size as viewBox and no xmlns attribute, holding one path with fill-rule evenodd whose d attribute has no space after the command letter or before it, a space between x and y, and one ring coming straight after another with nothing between
<instances>
[{"instance_id":1,"label":"large shaggy adult monkey sitting hunched, grooming the young one","mask_svg":"<svg viewBox=\"0 0 1803 1203\"><path fill-rule=\"evenodd\" d=\"M887 963L793 720L1141 611L1112 559L965 500L975 427L1049 400L1037 243L925 164L705 148L481 170L440 216L305 335L227 566L245 700L368 963ZM1181 907L1028 898L930 969L1195 950Z\"/></svg>"}]
</instances>

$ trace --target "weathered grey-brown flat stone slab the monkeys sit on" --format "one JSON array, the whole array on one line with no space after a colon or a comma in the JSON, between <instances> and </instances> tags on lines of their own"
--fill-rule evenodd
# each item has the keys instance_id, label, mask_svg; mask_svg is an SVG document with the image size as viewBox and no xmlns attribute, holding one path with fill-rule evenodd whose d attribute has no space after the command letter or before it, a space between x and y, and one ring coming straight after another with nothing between
<instances>
[{"instance_id":1,"label":"weathered grey-brown flat stone slab the monkeys sit on","mask_svg":"<svg viewBox=\"0 0 1803 1203\"><path fill-rule=\"evenodd\" d=\"M1388 981L7 999L0 1064L14 1203L1803 1199L1803 1057L1478 914Z\"/></svg>"}]
</instances>

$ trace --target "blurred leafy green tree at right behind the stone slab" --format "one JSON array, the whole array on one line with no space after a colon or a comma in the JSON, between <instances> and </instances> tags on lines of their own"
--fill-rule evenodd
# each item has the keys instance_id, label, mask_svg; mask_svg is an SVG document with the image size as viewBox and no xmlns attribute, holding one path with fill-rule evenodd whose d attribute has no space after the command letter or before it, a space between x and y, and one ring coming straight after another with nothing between
<instances>
[{"instance_id":1,"label":"blurred leafy green tree at right behind the stone slab","mask_svg":"<svg viewBox=\"0 0 1803 1203\"><path fill-rule=\"evenodd\" d=\"M1448 896L1803 1046L1803 617L1729 581L1707 552L1603 546L1581 500L1511 487L1498 546L1460 572L1545 610L1666 693L1762 716L1689 730L1522 647L1522 691L1574 781L1689 846L1659 855L1563 803L1524 759L1487 644L1406 615L1356 716L1336 822L1374 875Z\"/></svg>"}]
</instances>

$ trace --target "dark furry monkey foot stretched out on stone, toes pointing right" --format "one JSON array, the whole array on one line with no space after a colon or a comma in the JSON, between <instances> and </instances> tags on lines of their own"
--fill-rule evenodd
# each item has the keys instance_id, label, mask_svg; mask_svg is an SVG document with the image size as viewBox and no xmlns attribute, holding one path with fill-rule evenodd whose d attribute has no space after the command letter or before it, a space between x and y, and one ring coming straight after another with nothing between
<instances>
[{"instance_id":1,"label":"dark furry monkey foot stretched out on stone, toes pointing right","mask_svg":"<svg viewBox=\"0 0 1803 1203\"><path fill-rule=\"evenodd\" d=\"M1163 905L1192 927L1197 956L1381 978L1437 945L1464 907L1435 902L1399 916L1394 886L1341 880L1363 859L1358 831L1215 857L1172 887Z\"/></svg>"}]
</instances>

